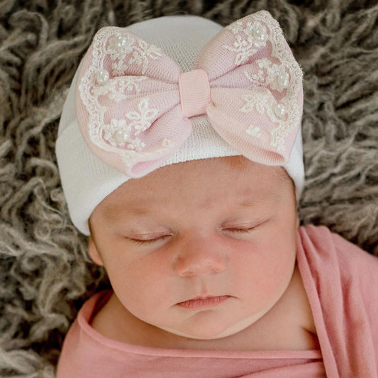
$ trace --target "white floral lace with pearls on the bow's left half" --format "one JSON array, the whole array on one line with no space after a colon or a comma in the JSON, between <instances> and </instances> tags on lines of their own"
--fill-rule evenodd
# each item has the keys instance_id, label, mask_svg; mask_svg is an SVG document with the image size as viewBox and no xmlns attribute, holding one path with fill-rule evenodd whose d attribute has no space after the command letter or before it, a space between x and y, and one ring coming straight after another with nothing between
<instances>
[{"instance_id":1,"label":"white floral lace with pearls on the bow's left half","mask_svg":"<svg viewBox=\"0 0 378 378\"><path fill-rule=\"evenodd\" d=\"M120 119L111 118L105 121L109 106L101 99L109 99L119 103L140 93L139 83L148 77L128 75L131 65L139 66L142 74L148 69L148 62L162 57L162 52L154 45L143 40L135 41L133 35L120 28L109 27L99 30L92 43L92 61L89 69L79 83L79 92L84 106L89 113L89 137L92 143L102 150L117 152L126 165L132 165L138 152L146 144L137 135L150 128L157 118L158 109L149 107L149 98L143 97L138 102L138 109L128 111ZM99 72L103 73L104 60L111 60L111 74L105 71L99 80ZM105 101L108 104L109 101ZM110 104L112 106L112 104ZM170 148L171 141L162 140L160 150Z\"/></svg>"}]
</instances>

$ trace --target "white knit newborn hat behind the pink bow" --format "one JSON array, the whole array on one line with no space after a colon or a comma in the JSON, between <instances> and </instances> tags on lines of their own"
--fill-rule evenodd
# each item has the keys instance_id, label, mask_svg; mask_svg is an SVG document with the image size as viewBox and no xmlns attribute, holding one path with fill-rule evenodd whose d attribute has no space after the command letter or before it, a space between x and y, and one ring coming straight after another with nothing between
<instances>
[{"instance_id":1,"label":"white knit newborn hat behind the pink bow","mask_svg":"<svg viewBox=\"0 0 378 378\"><path fill-rule=\"evenodd\" d=\"M172 57L182 72L189 72L194 69L199 52L223 27L199 16L165 16L135 23L126 29ZM75 107L79 70L80 66L63 107L56 154L72 222L82 233L89 235L88 220L92 211L130 177L96 157L83 138ZM160 167L189 160L243 155L216 133L207 115L189 119L193 129L191 135ZM283 167L293 179L299 199L304 185L300 128L289 161Z\"/></svg>"}]
</instances>

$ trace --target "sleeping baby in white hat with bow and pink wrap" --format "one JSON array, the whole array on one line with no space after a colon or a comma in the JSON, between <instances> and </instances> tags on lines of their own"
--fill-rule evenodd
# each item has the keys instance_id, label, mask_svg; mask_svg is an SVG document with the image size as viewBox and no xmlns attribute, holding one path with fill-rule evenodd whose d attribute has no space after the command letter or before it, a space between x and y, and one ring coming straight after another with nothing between
<instances>
[{"instance_id":1,"label":"sleeping baby in white hat with bow and pink wrap","mask_svg":"<svg viewBox=\"0 0 378 378\"><path fill-rule=\"evenodd\" d=\"M103 28L57 160L112 290L57 377L378 377L378 259L299 227L302 72L266 11Z\"/></svg>"}]
</instances>

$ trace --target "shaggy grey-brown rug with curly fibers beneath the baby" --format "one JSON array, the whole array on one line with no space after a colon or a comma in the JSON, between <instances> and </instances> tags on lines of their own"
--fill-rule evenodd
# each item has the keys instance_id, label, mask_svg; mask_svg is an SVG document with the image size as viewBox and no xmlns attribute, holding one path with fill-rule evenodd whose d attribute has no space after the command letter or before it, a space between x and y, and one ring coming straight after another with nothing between
<instances>
[{"instance_id":1,"label":"shaggy grey-brown rug with curly fibers beneath the baby","mask_svg":"<svg viewBox=\"0 0 378 378\"><path fill-rule=\"evenodd\" d=\"M179 13L227 25L260 9L277 18L304 70L301 222L378 255L377 1L0 1L1 377L54 377L77 311L109 287L72 226L54 153L96 30Z\"/></svg>"}]
</instances>

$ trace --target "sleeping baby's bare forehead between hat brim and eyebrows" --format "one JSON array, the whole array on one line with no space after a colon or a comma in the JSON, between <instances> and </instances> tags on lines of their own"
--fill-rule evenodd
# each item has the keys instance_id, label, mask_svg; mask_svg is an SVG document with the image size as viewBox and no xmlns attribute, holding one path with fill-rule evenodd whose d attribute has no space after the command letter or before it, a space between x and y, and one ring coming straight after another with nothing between
<instances>
[{"instance_id":1,"label":"sleeping baby's bare forehead between hat brim and eyebrows","mask_svg":"<svg viewBox=\"0 0 378 378\"><path fill-rule=\"evenodd\" d=\"M286 177L286 178L285 178ZM284 180L282 167L268 167L245 157L221 157L177 163L130 179L99 204L113 217L119 209L143 215L153 209L187 206L226 206L251 201L275 201Z\"/></svg>"}]
</instances>

